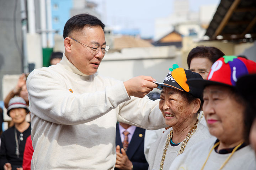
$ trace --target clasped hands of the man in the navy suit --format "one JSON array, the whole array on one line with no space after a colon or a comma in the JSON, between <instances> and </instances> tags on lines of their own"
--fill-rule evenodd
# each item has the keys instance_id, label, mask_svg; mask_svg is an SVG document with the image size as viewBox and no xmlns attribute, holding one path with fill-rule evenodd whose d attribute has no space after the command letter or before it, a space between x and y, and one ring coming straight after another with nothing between
<instances>
[{"instance_id":1,"label":"clasped hands of the man in the navy suit","mask_svg":"<svg viewBox=\"0 0 256 170\"><path fill-rule=\"evenodd\" d=\"M130 162L124 149L122 148L121 149L122 153L120 153L120 146L117 145L116 151L117 151L117 158L116 158L115 167L120 170L132 170L132 162Z\"/></svg>"}]
</instances>

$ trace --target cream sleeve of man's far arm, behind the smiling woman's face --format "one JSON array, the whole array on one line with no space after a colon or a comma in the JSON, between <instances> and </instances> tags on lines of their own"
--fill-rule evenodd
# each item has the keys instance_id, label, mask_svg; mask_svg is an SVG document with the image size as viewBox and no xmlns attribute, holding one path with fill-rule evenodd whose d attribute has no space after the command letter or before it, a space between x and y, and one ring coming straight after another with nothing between
<instances>
[{"instance_id":1,"label":"cream sleeve of man's far arm, behind the smiling woman's face","mask_svg":"<svg viewBox=\"0 0 256 170\"><path fill-rule=\"evenodd\" d=\"M164 128L167 125L158 103L159 100L152 101L148 96L132 96L131 100L120 104L117 120L148 130Z\"/></svg>"}]
</instances>

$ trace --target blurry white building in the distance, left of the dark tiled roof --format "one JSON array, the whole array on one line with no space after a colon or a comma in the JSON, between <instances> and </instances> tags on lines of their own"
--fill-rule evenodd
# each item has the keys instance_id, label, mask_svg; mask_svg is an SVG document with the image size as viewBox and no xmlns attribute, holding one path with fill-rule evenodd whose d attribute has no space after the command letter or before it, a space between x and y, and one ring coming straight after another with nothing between
<instances>
[{"instance_id":1,"label":"blurry white building in the distance, left of the dark tiled roof","mask_svg":"<svg viewBox=\"0 0 256 170\"><path fill-rule=\"evenodd\" d=\"M202 39L217 5L202 5L199 11L190 11L189 0L174 0L173 13L167 17L155 19L154 40L158 41L172 31L193 39Z\"/></svg>"}]
</instances>

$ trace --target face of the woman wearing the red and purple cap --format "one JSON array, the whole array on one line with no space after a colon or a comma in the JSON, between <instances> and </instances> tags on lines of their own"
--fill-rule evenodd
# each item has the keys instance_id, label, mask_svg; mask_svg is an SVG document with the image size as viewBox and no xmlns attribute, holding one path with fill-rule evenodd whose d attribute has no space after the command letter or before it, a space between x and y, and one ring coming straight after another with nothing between
<instances>
[{"instance_id":1,"label":"face of the woman wearing the red and purple cap","mask_svg":"<svg viewBox=\"0 0 256 170\"><path fill-rule=\"evenodd\" d=\"M219 85L207 86L203 92L203 111L209 132L222 142L243 137L245 106L235 97L230 87Z\"/></svg>"}]
</instances>

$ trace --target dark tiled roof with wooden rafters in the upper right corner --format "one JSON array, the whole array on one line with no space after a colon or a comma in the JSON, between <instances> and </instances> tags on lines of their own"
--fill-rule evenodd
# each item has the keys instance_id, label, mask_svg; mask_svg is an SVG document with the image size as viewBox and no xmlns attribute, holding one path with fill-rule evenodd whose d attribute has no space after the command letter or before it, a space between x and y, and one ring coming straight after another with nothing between
<instances>
[{"instance_id":1,"label":"dark tiled roof with wooden rafters in the upper right corner","mask_svg":"<svg viewBox=\"0 0 256 170\"><path fill-rule=\"evenodd\" d=\"M256 39L256 0L221 0L207 28L210 40ZM251 34L245 37L245 34Z\"/></svg>"}]
</instances>

